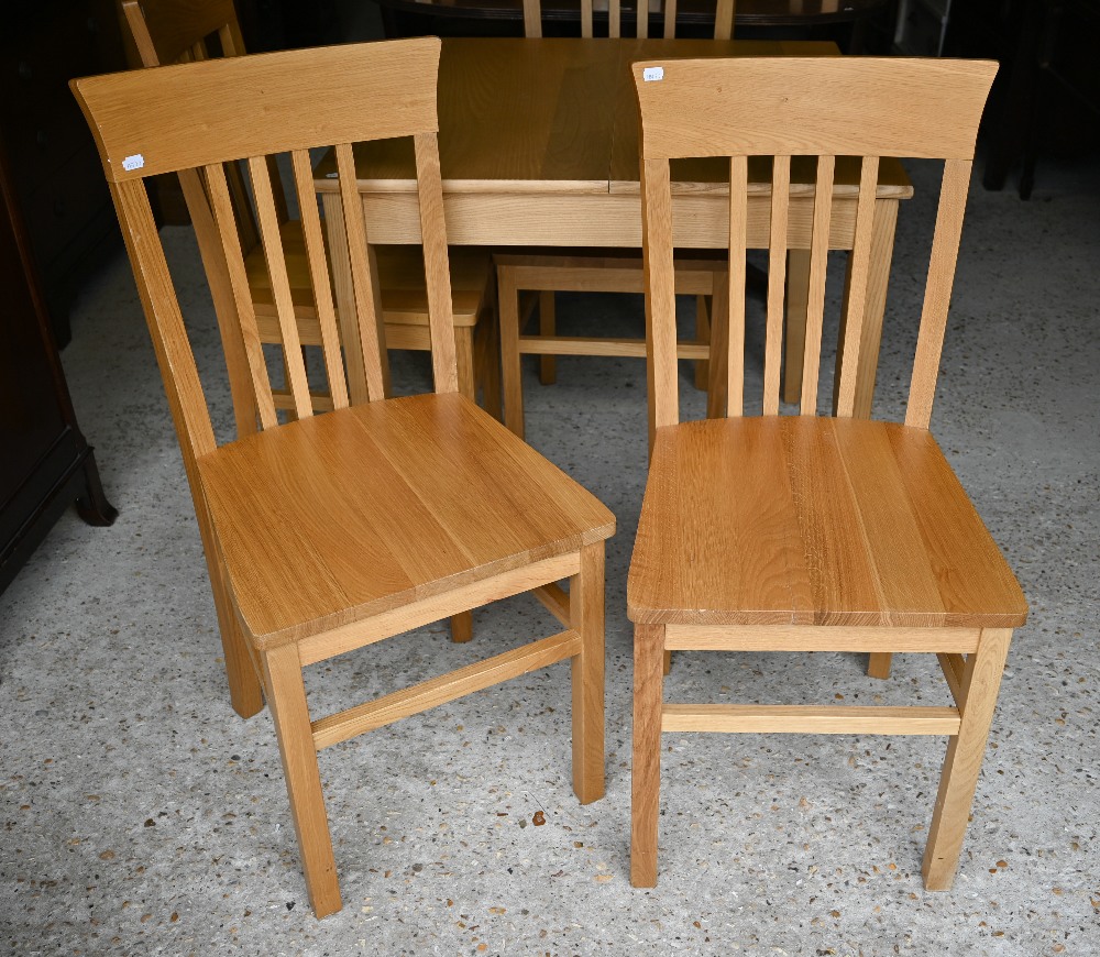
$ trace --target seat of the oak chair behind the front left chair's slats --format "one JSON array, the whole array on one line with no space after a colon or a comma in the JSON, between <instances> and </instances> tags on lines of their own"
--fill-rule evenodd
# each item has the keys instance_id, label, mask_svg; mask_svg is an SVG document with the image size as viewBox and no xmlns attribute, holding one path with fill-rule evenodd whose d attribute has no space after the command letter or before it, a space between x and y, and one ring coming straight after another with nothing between
<instances>
[{"instance_id":1,"label":"seat of the oak chair behind the front left chair's slats","mask_svg":"<svg viewBox=\"0 0 1100 957\"><path fill-rule=\"evenodd\" d=\"M309 279L309 262L301 223L289 220L280 227L286 250L286 270L290 280L290 298L298 317L298 334L304 345L320 344L320 327L314 311L314 287ZM420 246L374 246L382 286L382 315L387 324L428 326L428 294L425 287L424 253ZM451 272L451 309L455 326L475 326L485 301L493 270L492 255L486 250L453 246L448 250ZM244 258L249 287L256 304L261 338L270 332L278 338L271 278L263 246L256 246ZM265 320L268 320L265 322ZM310 322L309 320L314 320ZM270 329L267 327L271 327Z\"/></svg>"}]
</instances>

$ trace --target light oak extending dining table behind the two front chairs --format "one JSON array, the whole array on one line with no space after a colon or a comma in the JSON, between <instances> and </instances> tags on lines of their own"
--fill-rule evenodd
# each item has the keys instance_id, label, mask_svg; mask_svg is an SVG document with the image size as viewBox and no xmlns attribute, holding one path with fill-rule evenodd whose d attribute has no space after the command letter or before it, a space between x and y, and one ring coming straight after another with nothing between
<instances>
[{"instance_id":1,"label":"light oak extending dining table behind the two front chairs","mask_svg":"<svg viewBox=\"0 0 1100 957\"><path fill-rule=\"evenodd\" d=\"M630 64L712 56L835 56L814 41L626 38L444 38L439 69L439 151L448 242L482 246L641 246L638 107ZM700 121L705 122L705 117ZM750 165L749 245L766 248L770 161ZM419 243L413 143L355 147L358 190L371 243ZM792 162L788 314L805 309L813 224L814 166ZM341 220L331 156L315 172L326 218ZM839 157L832 249L851 249L858 165ZM680 249L725 249L728 164L673 162L673 237ZM868 416L875 388L898 206L913 190L898 161L880 164L856 414ZM337 305L353 314L350 264L330 245ZM791 323L792 326L794 323ZM394 343L396 344L396 343ZM790 343L787 397L801 388L801 344ZM839 354L840 350L838 350ZM796 366L796 367L795 367ZM354 376L355 370L349 374ZM838 378L838 377L837 377Z\"/></svg>"}]
</instances>

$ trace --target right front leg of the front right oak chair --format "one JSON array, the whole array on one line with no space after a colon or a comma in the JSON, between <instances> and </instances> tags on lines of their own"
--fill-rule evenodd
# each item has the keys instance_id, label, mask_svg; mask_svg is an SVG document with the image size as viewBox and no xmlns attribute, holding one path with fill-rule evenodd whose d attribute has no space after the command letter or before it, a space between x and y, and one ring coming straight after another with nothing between
<instances>
[{"instance_id":1,"label":"right front leg of the front right oak chair","mask_svg":"<svg viewBox=\"0 0 1100 957\"><path fill-rule=\"evenodd\" d=\"M955 880L1011 640L1010 628L985 628L978 650L967 657L963 701L958 703L963 723L947 746L921 868L930 891L950 890Z\"/></svg>"}]
</instances>

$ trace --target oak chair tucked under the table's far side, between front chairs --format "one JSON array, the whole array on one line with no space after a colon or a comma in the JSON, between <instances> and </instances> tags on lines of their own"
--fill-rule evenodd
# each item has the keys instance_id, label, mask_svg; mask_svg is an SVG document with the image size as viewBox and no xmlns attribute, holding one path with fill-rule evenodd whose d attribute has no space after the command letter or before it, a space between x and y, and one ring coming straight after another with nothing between
<instances>
[{"instance_id":1,"label":"oak chair tucked under the table's far side, between front chairs","mask_svg":"<svg viewBox=\"0 0 1100 957\"><path fill-rule=\"evenodd\" d=\"M666 4L664 35L675 35L675 0ZM593 36L592 0L581 3L581 35ZM648 35L649 20L638 18L638 36ZM734 2L718 0L714 36L728 40L733 32ZM609 0L608 35L622 35L619 0ZM528 37L542 36L540 0L524 0L524 33ZM706 298L716 293L724 296L726 282L724 264L705 258L702 254L676 262L676 292L696 297L696 338L679 345L681 359L697 360L695 385L712 387L708 382L710 320ZM504 383L505 422L520 438L525 433L524 389L520 374L520 355L540 355L539 377L543 385L556 378L556 355L625 355L644 358L642 339L609 339L564 337L557 334L554 314L556 292L580 293L641 293L641 258L614 250L606 253L593 251L538 251L528 254L501 253L496 256L497 294L501 310L501 355ZM520 301L521 292L536 292L539 309L538 334L525 336L522 326L528 310ZM721 304L719 304L721 306ZM721 402L722 383L713 383L713 400Z\"/></svg>"}]
</instances>

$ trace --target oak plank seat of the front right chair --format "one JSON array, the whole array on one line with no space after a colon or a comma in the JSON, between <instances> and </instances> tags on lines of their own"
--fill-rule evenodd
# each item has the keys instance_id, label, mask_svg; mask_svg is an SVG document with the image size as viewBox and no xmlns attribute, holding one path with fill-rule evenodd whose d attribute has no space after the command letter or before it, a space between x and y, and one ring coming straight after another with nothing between
<instances>
[{"instance_id":1,"label":"oak plank seat of the front right chair","mask_svg":"<svg viewBox=\"0 0 1100 957\"><path fill-rule=\"evenodd\" d=\"M630 619L686 625L1022 625L1027 607L923 430L813 417L657 433Z\"/></svg>"}]
</instances>

